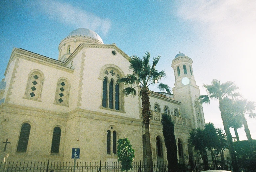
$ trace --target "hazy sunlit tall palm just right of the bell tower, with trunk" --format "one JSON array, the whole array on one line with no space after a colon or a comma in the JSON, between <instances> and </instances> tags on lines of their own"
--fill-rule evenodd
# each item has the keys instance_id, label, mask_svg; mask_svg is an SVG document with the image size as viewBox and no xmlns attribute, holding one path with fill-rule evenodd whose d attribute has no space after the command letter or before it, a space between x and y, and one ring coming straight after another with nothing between
<instances>
[{"instance_id":1,"label":"hazy sunlit tall palm just right of the bell tower, with trunk","mask_svg":"<svg viewBox=\"0 0 256 172\"><path fill-rule=\"evenodd\" d=\"M228 148L232 160L232 166L234 172L239 172L239 166L237 163L237 158L234 151L234 146L232 142L232 135L229 130L229 119L230 116L226 113L226 109L224 108L225 101L228 99L235 99L237 97L242 97L242 95L238 92L238 87L234 84L234 82L225 82L221 83L220 81L214 79L211 85L204 84L208 95L199 96L200 103L210 104L210 99L217 100L219 102L219 110L222 118L222 123L224 126L225 133L227 135Z\"/></svg>"}]
</instances>

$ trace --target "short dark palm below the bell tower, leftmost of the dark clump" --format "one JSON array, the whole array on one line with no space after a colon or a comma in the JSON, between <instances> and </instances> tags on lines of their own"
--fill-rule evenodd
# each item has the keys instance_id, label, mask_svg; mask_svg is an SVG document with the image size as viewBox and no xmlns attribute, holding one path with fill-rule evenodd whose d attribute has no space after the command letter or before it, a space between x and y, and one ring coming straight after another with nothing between
<instances>
[{"instance_id":1,"label":"short dark palm below the bell tower, leftmost of the dark clump","mask_svg":"<svg viewBox=\"0 0 256 172\"><path fill-rule=\"evenodd\" d=\"M205 130L196 128L189 133L188 143L201 155L204 162L204 170L209 170L206 137Z\"/></svg>"}]
</instances>

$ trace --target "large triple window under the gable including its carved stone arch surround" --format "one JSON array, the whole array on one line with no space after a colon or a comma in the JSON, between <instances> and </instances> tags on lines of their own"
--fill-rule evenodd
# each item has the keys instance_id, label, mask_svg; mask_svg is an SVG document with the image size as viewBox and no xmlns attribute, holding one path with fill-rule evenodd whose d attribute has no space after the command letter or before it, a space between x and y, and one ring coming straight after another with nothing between
<instances>
[{"instance_id":1,"label":"large triple window under the gable including its carved stone arch surround","mask_svg":"<svg viewBox=\"0 0 256 172\"><path fill-rule=\"evenodd\" d=\"M120 77L125 77L123 71L113 64L104 65L100 70L102 80L101 108L124 112L123 84L117 84Z\"/></svg>"}]
</instances>

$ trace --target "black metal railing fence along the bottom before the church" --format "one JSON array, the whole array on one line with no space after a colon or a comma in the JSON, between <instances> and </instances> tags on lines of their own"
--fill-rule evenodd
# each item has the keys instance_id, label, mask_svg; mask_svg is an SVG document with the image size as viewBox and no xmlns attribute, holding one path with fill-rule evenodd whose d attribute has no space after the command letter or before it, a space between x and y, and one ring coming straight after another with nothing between
<instances>
[{"instance_id":1,"label":"black metal railing fence along the bottom before the church","mask_svg":"<svg viewBox=\"0 0 256 172\"><path fill-rule=\"evenodd\" d=\"M220 163L209 161L209 169L233 170L231 162L225 161L224 167ZM129 172L146 172L148 165L142 161L133 162ZM203 162L179 162L179 172L203 171ZM166 172L167 162L153 162L154 172ZM0 172L121 172L119 162L7 162L0 163Z\"/></svg>"}]
</instances>

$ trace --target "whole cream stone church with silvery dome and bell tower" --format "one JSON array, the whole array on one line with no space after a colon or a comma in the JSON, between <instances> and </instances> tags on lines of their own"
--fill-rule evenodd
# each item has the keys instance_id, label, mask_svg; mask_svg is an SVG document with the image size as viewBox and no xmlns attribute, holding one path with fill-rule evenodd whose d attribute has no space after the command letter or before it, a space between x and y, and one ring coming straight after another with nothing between
<instances>
[{"instance_id":1,"label":"whole cream stone church with silvery dome and bell tower","mask_svg":"<svg viewBox=\"0 0 256 172\"><path fill-rule=\"evenodd\" d=\"M8 139L8 161L71 161L72 148L80 148L81 162L116 162L116 142L124 137L135 161L145 161L141 99L124 97L124 86L116 84L131 73L129 58L84 28L61 41L58 60L13 48L0 82L0 150ZM192 59L179 53L170 65L173 94L150 95L153 161L166 161L161 114L175 123L179 160L193 157L189 132L205 124Z\"/></svg>"}]
</instances>

